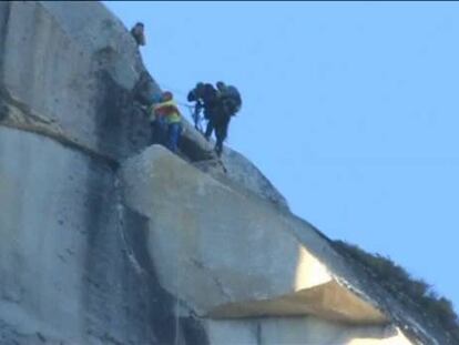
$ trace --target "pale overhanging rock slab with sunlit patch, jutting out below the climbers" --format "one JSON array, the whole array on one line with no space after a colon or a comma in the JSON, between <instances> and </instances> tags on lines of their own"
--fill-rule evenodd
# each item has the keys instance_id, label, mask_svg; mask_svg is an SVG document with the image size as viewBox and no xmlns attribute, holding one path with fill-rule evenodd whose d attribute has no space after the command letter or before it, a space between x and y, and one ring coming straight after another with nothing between
<instances>
[{"instance_id":1,"label":"pale overhanging rock slab with sunlit patch, jutting out below the climbers","mask_svg":"<svg viewBox=\"0 0 459 345\"><path fill-rule=\"evenodd\" d=\"M125 202L150 217L147 246L161 283L197 313L385 321L356 296L365 304L358 317L351 298L339 307L328 303L345 287L333 283L269 202L230 189L157 145L126 161L121 175ZM310 296L323 303L310 304Z\"/></svg>"}]
</instances>

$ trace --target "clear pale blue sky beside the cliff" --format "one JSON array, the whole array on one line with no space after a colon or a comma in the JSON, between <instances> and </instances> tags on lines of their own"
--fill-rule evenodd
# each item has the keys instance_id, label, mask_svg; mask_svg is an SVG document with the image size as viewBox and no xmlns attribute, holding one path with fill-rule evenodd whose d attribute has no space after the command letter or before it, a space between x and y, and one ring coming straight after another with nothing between
<instances>
[{"instance_id":1,"label":"clear pale blue sky beside the cliff","mask_svg":"<svg viewBox=\"0 0 459 345\"><path fill-rule=\"evenodd\" d=\"M239 89L227 144L294 213L459 310L459 3L105 4L145 23L145 64L180 101L197 81Z\"/></svg>"}]
</instances>

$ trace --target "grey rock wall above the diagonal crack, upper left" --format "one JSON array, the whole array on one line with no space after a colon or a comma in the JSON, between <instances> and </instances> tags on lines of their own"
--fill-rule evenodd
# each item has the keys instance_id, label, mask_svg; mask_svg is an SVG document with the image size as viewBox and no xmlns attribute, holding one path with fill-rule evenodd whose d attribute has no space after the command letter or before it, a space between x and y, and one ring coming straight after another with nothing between
<instances>
[{"instance_id":1,"label":"grey rock wall above the diagonal crack, upper left","mask_svg":"<svg viewBox=\"0 0 459 345\"><path fill-rule=\"evenodd\" d=\"M2 13L1 91L20 110L10 125L45 126L50 135L112 159L146 144L147 125L131 92L142 72L140 55L102 4L9 2Z\"/></svg>"}]
</instances>

